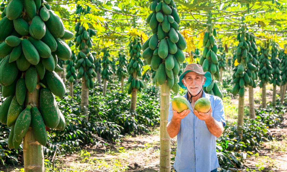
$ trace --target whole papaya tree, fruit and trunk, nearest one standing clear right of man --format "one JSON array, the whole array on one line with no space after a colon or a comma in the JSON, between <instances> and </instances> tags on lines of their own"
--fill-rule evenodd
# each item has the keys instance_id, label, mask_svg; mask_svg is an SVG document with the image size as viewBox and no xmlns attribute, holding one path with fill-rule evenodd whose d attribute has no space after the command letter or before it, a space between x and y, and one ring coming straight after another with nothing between
<instances>
[{"instance_id":1,"label":"whole papaya tree, fruit and trunk, nearest one standing clear right of man","mask_svg":"<svg viewBox=\"0 0 287 172\"><path fill-rule=\"evenodd\" d=\"M243 18L244 20L244 18ZM246 27L241 27L238 29L237 40L239 44L236 49L236 60L239 63L234 69L234 74L232 75L232 83L234 87L232 89L232 94L235 96L239 93L238 102L238 132L242 138L242 126L244 119L244 92L245 87L253 86L252 72L257 68L251 63L253 60L252 54L249 52L251 43L250 35Z\"/></svg>"}]
</instances>

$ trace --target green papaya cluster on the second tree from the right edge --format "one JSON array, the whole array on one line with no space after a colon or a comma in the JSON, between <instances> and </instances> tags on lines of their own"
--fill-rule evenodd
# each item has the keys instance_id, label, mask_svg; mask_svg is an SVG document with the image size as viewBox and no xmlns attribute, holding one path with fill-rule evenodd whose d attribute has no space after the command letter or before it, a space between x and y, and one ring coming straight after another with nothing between
<instances>
[{"instance_id":1,"label":"green papaya cluster on the second tree from the right edge","mask_svg":"<svg viewBox=\"0 0 287 172\"><path fill-rule=\"evenodd\" d=\"M281 60L278 58L279 54L279 45L276 42L272 42L272 53L271 53L271 66L272 66L272 79L270 81L273 86L277 85L280 86L282 82L281 78Z\"/></svg>"}]
</instances>

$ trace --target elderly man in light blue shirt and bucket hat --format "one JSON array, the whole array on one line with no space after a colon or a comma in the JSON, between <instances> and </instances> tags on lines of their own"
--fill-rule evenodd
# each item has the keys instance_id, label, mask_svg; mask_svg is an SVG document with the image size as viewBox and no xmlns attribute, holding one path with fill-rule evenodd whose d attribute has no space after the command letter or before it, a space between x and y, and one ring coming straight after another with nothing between
<instances>
[{"instance_id":1,"label":"elderly man in light blue shirt and bucket hat","mask_svg":"<svg viewBox=\"0 0 287 172\"><path fill-rule=\"evenodd\" d=\"M184 97L191 110L181 113L169 107L167 132L177 136L177 154L173 164L177 172L216 172L219 167L216 156L216 137L224 131L225 116L222 100L202 89L211 83L210 72L203 72L198 64L188 64L179 77L179 86L187 89ZM207 113L194 110L199 98L208 98L211 108Z\"/></svg>"}]
</instances>

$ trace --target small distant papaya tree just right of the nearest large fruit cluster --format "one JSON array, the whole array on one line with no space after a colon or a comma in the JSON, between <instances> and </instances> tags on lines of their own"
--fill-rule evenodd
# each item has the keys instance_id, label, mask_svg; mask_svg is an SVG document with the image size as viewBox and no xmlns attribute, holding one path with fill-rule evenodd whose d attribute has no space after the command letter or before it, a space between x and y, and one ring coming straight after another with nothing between
<instances>
[{"instance_id":1,"label":"small distant papaya tree just right of the nearest large fruit cluster","mask_svg":"<svg viewBox=\"0 0 287 172\"><path fill-rule=\"evenodd\" d=\"M73 43L70 44L70 47L72 45ZM72 51L71 59L65 61L65 64L67 65L66 66L67 80L70 83L70 97L72 99L74 97L73 83L74 83L74 80L77 78L77 74L75 71L75 60L76 60L76 56L75 56L75 53Z\"/></svg>"}]
</instances>

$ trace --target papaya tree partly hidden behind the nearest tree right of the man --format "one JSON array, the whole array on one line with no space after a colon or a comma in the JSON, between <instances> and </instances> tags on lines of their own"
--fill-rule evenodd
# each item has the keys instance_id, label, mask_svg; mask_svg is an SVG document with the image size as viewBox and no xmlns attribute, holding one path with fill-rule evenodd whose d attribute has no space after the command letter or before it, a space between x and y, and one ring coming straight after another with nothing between
<instances>
[{"instance_id":1,"label":"papaya tree partly hidden behind the nearest tree right of the man","mask_svg":"<svg viewBox=\"0 0 287 172\"><path fill-rule=\"evenodd\" d=\"M255 108L254 108L254 94L253 94L253 88L256 88L256 80L258 79L258 72L259 72L259 61L258 61L258 49L256 46L255 37L250 36L250 42L251 46L249 46L249 53L253 56L253 59L250 60L250 63L253 64L256 67L256 70L253 65L247 63L247 66L249 65L249 68L251 70L251 80L253 81L253 86L249 85L249 117L251 119L255 119Z\"/></svg>"}]
</instances>

